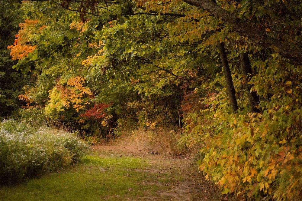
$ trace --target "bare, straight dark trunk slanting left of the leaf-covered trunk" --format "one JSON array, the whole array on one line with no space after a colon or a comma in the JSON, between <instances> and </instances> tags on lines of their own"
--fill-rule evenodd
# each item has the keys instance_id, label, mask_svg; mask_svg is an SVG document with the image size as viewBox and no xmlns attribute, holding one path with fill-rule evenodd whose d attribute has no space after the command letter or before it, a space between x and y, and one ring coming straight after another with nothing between
<instances>
[{"instance_id":1,"label":"bare, straight dark trunk slanting left of the leaf-covered trunk","mask_svg":"<svg viewBox=\"0 0 302 201\"><path fill-rule=\"evenodd\" d=\"M236 112L238 110L238 105L235 95L235 88L232 80L232 74L226 57L226 50L224 48L224 43L218 43L217 46L219 49L220 60L221 60L224 76L226 78L226 87L230 99L231 108L233 112Z\"/></svg>"}]
</instances>

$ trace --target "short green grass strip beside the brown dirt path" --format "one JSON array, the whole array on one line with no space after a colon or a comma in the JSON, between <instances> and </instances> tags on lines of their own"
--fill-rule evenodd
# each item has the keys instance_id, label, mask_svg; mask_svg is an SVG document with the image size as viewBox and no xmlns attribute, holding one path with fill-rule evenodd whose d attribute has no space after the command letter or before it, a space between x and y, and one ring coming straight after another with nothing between
<instances>
[{"instance_id":1,"label":"short green grass strip beside the brown dirt path","mask_svg":"<svg viewBox=\"0 0 302 201\"><path fill-rule=\"evenodd\" d=\"M160 198L164 184L182 180L179 170L149 171L153 164L139 157L87 156L74 167L48 173L14 186L0 187L0 200L125 200ZM156 167L160 169L160 167ZM161 197L162 199L164 197Z\"/></svg>"}]
</instances>

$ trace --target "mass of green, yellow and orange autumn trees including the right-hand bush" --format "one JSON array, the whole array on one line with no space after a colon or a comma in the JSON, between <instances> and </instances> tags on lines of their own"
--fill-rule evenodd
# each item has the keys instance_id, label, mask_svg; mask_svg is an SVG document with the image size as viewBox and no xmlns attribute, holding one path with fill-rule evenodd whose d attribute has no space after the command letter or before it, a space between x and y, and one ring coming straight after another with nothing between
<instances>
[{"instance_id":1,"label":"mass of green, yellow and orange autumn trees including the right-hand bush","mask_svg":"<svg viewBox=\"0 0 302 201\"><path fill-rule=\"evenodd\" d=\"M301 199L300 1L38 0L21 10L8 49L35 79L19 96L23 118L100 138L178 127L223 193Z\"/></svg>"}]
</instances>

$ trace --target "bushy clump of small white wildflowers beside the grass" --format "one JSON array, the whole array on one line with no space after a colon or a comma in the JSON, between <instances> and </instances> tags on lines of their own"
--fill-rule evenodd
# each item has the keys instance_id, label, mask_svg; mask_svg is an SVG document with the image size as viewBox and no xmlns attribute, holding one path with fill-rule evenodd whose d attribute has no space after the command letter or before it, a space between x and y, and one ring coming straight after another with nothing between
<instances>
[{"instance_id":1,"label":"bushy clump of small white wildflowers beside the grass","mask_svg":"<svg viewBox=\"0 0 302 201\"><path fill-rule=\"evenodd\" d=\"M0 183L59 170L78 162L87 150L76 133L4 120L0 123Z\"/></svg>"}]
</instances>

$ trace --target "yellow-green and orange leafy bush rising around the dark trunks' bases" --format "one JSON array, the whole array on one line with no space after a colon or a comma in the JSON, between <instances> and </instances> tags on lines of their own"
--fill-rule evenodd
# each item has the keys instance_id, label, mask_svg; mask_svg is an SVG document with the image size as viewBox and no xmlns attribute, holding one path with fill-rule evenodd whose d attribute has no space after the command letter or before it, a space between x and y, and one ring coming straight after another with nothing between
<instances>
[{"instance_id":1,"label":"yellow-green and orange leafy bush rising around the dark trunks' bases","mask_svg":"<svg viewBox=\"0 0 302 201\"><path fill-rule=\"evenodd\" d=\"M223 193L252 200L302 200L300 88L286 79L271 86L258 79L261 113L229 113L223 93L211 93L195 101L203 108L185 116L182 142L200 145L199 169ZM267 90L261 92L263 88ZM263 98L267 91L269 99Z\"/></svg>"}]
</instances>

